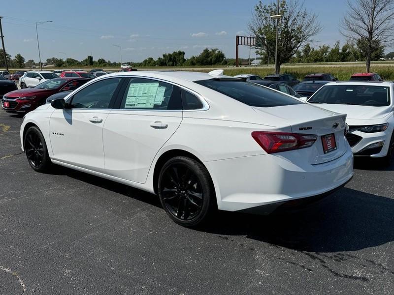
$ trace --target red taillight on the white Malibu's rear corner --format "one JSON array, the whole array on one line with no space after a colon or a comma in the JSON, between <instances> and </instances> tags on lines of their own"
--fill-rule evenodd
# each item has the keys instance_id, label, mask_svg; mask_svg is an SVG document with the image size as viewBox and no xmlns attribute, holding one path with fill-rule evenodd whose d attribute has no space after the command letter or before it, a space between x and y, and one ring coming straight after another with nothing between
<instances>
[{"instance_id":1,"label":"red taillight on the white Malibu's rear corner","mask_svg":"<svg viewBox=\"0 0 394 295\"><path fill-rule=\"evenodd\" d=\"M265 131L253 131L252 137L267 153L308 148L317 140L317 137L312 134Z\"/></svg>"}]
</instances>

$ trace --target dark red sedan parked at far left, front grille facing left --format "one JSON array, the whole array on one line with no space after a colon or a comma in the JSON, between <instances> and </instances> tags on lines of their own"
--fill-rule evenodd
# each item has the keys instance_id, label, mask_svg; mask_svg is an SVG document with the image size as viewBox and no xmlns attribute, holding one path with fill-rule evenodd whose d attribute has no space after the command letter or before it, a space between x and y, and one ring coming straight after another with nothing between
<instances>
[{"instance_id":1,"label":"dark red sedan parked at far left, front grille facing left","mask_svg":"<svg viewBox=\"0 0 394 295\"><path fill-rule=\"evenodd\" d=\"M25 88L6 93L1 100L1 106L8 113L27 113L45 104L45 100L52 94L77 89L90 80L87 78L51 79L34 88Z\"/></svg>"}]
</instances>

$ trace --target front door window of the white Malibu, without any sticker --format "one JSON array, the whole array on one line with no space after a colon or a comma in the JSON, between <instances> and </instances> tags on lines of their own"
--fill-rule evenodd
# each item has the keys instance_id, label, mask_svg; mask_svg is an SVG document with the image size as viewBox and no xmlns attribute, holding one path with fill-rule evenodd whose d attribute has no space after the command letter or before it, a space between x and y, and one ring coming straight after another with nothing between
<instances>
[{"instance_id":1,"label":"front door window of the white Malibu, without any sticker","mask_svg":"<svg viewBox=\"0 0 394 295\"><path fill-rule=\"evenodd\" d=\"M78 109L108 109L121 79L105 79L89 85L72 96L69 107Z\"/></svg>"}]
</instances>

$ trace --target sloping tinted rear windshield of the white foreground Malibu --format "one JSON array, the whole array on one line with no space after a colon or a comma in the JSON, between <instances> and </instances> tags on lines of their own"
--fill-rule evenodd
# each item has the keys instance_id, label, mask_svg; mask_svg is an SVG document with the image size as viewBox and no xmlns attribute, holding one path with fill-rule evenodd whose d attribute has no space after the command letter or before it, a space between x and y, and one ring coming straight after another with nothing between
<instances>
[{"instance_id":1,"label":"sloping tinted rear windshield of the white foreground Malibu","mask_svg":"<svg viewBox=\"0 0 394 295\"><path fill-rule=\"evenodd\" d=\"M202 80L197 84L216 90L251 107L278 107L302 104L275 90L242 80Z\"/></svg>"}]
</instances>

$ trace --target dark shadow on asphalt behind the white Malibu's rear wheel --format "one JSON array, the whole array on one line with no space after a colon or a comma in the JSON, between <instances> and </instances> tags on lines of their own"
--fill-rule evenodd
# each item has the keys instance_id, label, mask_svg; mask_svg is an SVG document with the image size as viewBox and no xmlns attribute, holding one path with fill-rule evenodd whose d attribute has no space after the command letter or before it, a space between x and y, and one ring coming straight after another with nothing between
<instances>
[{"instance_id":1,"label":"dark shadow on asphalt behind the white Malibu's rear wheel","mask_svg":"<svg viewBox=\"0 0 394 295\"><path fill-rule=\"evenodd\" d=\"M343 188L303 211L258 216L219 212L204 232L299 251L355 251L394 240L394 200Z\"/></svg>"}]
</instances>

